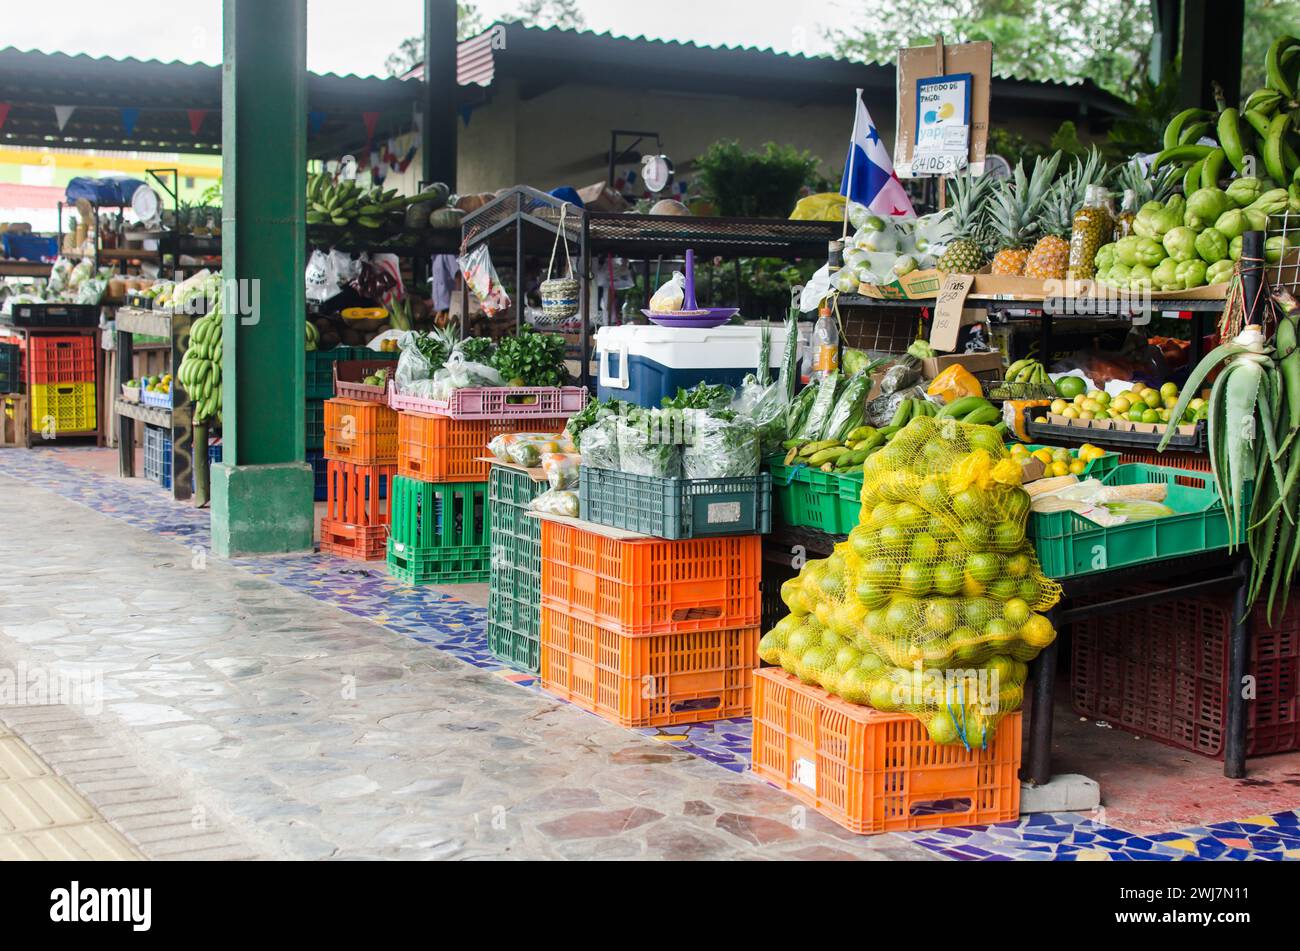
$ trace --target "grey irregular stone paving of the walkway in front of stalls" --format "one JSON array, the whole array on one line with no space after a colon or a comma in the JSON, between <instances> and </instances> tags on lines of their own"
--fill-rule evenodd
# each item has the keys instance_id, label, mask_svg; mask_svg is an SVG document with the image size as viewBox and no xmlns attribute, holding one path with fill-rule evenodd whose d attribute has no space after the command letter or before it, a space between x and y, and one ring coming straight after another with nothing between
<instances>
[{"instance_id":1,"label":"grey irregular stone paving of the walkway in front of stalls","mask_svg":"<svg viewBox=\"0 0 1300 951\"><path fill-rule=\"evenodd\" d=\"M4 476L0 525L0 666L103 677L0 717L107 738L51 759L146 856L937 857Z\"/></svg>"}]
</instances>

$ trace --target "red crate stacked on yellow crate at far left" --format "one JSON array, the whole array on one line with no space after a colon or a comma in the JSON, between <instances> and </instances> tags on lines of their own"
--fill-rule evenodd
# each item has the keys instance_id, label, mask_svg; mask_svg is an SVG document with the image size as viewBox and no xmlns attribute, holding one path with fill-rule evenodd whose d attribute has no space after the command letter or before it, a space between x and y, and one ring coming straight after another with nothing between
<instances>
[{"instance_id":1,"label":"red crate stacked on yellow crate at far left","mask_svg":"<svg viewBox=\"0 0 1300 951\"><path fill-rule=\"evenodd\" d=\"M34 335L26 356L32 430L51 435L94 433L99 426L95 338Z\"/></svg>"}]
</instances>

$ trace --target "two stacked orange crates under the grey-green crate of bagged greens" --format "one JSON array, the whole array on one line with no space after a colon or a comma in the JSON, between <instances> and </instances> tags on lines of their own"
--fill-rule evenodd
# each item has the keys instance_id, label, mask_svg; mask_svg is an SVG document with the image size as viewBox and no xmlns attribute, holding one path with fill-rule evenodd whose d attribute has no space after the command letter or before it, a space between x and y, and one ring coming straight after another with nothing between
<instances>
[{"instance_id":1,"label":"two stacked orange crates under the grey-green crate of bagged greens","mask_svg":"<svg viewBox=\"0 0 1300 951\"><path fill-rule=\"evenodd\" d=\"M762 539L542 520L542 686L621 726L749 716Z\"/></svg>"}]
</instances>

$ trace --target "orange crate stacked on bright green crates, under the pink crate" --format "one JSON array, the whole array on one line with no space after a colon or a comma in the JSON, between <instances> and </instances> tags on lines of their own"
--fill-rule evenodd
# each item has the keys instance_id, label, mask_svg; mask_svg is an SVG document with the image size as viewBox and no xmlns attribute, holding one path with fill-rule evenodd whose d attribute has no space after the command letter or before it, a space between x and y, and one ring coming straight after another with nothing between
<instances>
[{"instance_id":1,"label":"orange crate stacked on bright green crates, under the pink crate","mask_svg":"<svg viewBox=\"0 0 1300 951\"><path fill-rule=\"evenodd\" d=\"M560 433L567 422L399 411L396 494L410 504L394 518L389 573L408 585L490 582L488 443L508 433Z\"/></svg>"}]
</instances>

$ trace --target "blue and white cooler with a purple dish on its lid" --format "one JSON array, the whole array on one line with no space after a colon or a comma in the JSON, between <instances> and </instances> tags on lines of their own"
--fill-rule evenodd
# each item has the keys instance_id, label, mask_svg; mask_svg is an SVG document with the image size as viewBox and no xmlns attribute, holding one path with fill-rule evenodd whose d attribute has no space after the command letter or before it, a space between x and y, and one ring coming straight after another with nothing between
<instances>
[{"instance_id":1,"label":"blue and white cooler with a purple dish on its lid","mask_svg":"<svg viewBox=\"0 0 1300 951\"><path fill-rule=\"evenodd\" d=\"M595 331L597 395L658 407L679 387L725 383L738 388L758 366L762 333L759 326L732 325L708 330L653 323L601 327ZM772 325L771 334L775 379L785 352L785 326Z\"/></svg>"}]
</instances>

